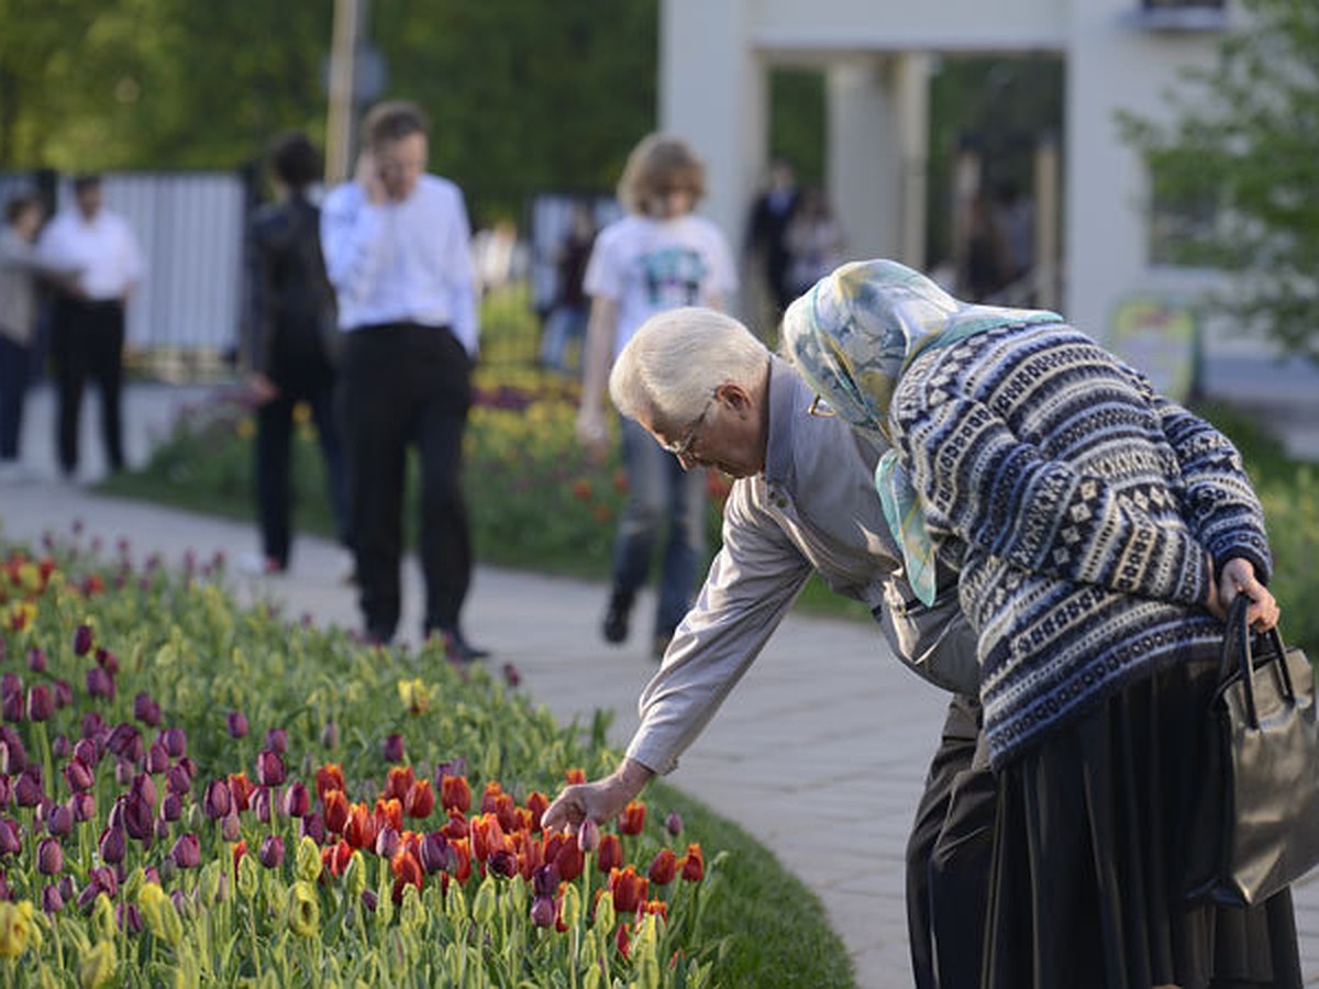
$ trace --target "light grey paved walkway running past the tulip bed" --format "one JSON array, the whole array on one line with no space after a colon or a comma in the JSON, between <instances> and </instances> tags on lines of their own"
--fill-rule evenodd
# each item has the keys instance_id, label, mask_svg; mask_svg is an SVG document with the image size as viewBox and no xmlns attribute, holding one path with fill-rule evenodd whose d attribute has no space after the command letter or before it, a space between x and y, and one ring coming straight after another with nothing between
<instances>
[{"instance_id":1,"label":"light grey paved walkway running past the tulip bed","mask_svg":"<svg viewBox=\"0 0 1319 989\"><path fill-rule=\"evenodd\" d=\"M129 389L128 456L145 456L173 409L197 389ZM120 535L140 553L178 562L194 550L231 559L257 549L252 526L96 497L54 481L49 393L30 404L25 451L38 483L0 488L3 533L37 539L67 533L74 520L108 545ZM84 439L95 439L90 423ZM84 446L98 446L95 442ZM87 473L102 469L87 450ZM356 626L344 556L332 543L301 538L291 571L278 579L235 578L244 596L269 596L289 613ZM405 574L402 629L421 624L419 574ZM598 633L600 585L477 568L466 613L474 641L512 662L532 696L561 719L588 723L596 708L617 717L620 746L636 727L636 698L652 665L646 644L605 646ZM648 601L640 603L646 613ZM886 655L864 624L789 617L733 691L671 782L739 822L814 889L856 963L863 989L911 985L902 901L902 849L925 767L942 723L943 695ZM1298 890L1307 981L1319 985L1319 878Z\"/></svg>"}]
</instances>

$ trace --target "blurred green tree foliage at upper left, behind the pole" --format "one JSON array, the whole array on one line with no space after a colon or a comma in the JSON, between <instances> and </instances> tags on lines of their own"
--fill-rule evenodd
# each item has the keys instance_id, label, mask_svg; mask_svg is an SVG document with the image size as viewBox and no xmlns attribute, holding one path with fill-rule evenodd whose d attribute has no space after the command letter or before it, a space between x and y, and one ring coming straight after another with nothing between
<instances>
[{"instance_id":1,"label":"blurred green tree foliage at upper left, behind the pole","mask_svg":"<svg viewBox=\"0 0 1319 989\"><path fill-rule=\"evenodd\" d=\"M612 189L654 127L656 0L368 7L389 84L477 211ZM239 167L324 133L330 0L0 0L0 169Z\"/></svg>"}]
</instances>

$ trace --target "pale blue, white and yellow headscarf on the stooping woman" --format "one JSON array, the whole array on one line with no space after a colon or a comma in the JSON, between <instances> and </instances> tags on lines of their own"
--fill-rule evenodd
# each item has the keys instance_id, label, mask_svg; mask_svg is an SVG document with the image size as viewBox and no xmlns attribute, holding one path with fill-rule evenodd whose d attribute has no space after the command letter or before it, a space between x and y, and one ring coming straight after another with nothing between
<instances>
[{"instance_id":1,"label":"pale blue, white and yellow headscarf on the stooping woman","mask_svg":"<svg viewBox=\"0 0 1319 989\"><path fill-rule=\"evenodd\" d=\"M787 307L783 343L802 377L838 415L892 442L889 404L917 356L1001 326L1060 322L1045 310L962 302L897 261L855 261L820 278ZM880 459L874 487L902 547L907 583L933 604L934 546L896 450Z\"/></svg>"}]
</instances>

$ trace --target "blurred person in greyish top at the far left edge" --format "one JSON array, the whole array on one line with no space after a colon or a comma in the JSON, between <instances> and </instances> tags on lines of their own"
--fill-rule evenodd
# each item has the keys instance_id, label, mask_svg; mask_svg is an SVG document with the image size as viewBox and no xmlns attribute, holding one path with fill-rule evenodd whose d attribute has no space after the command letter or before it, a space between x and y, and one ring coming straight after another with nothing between
<instances>
[{"instance_id":1,"label":"blurred person in greyish top at the far left edge","mask_svg":"<svg viewBox=\"0 0 1319 989\"><path fill-rule=\"evenodd\" d=\"M70 282L78 268L51 268L37 252L37 232L45 219L34 193L18 193L4 207L0 231L0 481L24 481L30 475L18 460L22 406L32 378L33 336L37 327L37 280Z\"/></svg>"}]
</instances>

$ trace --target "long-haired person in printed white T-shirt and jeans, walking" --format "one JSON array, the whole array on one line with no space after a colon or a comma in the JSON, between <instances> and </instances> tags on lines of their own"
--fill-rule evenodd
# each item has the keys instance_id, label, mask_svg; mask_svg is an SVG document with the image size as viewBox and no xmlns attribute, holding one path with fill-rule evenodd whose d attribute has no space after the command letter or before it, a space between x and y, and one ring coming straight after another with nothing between
<instances>
[{"instance_id":1,"label":"long-haired person in printed white T-shirt and jeans, walking","mask_svg":"<svg viewBox=\"0 0 1319 989\"><path fill-rule=\"evenodd\" d=\"M737 287L727 240L692 212L704 187L696 156L665 135L645 137L624 167L619 200L628 216L600 232L584 282L591 322L578 436L596 456L603 456L608 436L603 397L609 367L637 328L656 313L679 306L721 309ZM706 477L704 471L685 472L632 419L621 421L621 434L628 497L615 539L603 634L613 644L627 640L632 605L667 521L652 638L658 659L695 591L706 547Z\"/></svg>"}]
</instances>

